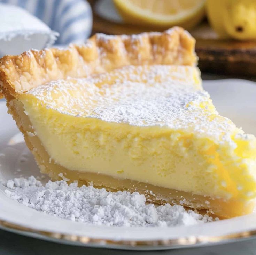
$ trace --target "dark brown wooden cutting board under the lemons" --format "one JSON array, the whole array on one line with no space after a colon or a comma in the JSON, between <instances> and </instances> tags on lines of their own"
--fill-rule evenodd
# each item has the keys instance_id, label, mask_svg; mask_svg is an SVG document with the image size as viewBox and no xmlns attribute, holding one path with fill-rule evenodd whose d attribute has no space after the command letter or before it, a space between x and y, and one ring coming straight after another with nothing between
<instances>
[{"instance_id":1,"label":"dark brown wooden cutting board under the lemons","mask_svg":"<svg viewBox=\"0 0 256 255\"><path fill-rule=\"evenodd\" d=\"M103 19L95 12L96 1L89 2L93 9L93 34L137 34L152 31L152 28ZM107 7L113 8L111 5ZM206 20L189 32L196 39L201 71L232 77L256 77L256 41L220 40Z\"/></svg>"}]
</instances>

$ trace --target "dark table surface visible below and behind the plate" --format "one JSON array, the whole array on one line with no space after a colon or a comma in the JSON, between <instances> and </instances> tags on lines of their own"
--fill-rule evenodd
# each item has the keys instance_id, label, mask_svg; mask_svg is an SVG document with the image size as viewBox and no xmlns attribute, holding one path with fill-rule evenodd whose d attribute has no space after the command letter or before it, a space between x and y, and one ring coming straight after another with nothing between
<instances>
[{"instance_id":1,"label":"dark table surface visible below and behind the plate","mask_svg":"<svg viewBox=\"0 0 256 255\"><path fill-rule=\"evenodd\" d=\"M212 75L202 74L202 78L205 80L212 79L225 79L234 78L224 75ZM236 77L243 78L243 77ZM256 81L255 78L250 79ZM256 238L244 241L238 241L231 244L215 245L199 248L187 248L177 250L165 250L165 251L147 251L147 252L134 252L134 251L121 251L121 250L109 250L99 248L87 248L71 245L57 244L54 242L47 242L31 237L25 237L0 230L0 255L51 255L51 254L86 254L86 255L130 255L130 254L161 254L161 255L256 255Z\"/></svg>"}]
</instances>

